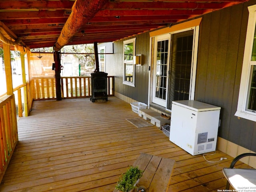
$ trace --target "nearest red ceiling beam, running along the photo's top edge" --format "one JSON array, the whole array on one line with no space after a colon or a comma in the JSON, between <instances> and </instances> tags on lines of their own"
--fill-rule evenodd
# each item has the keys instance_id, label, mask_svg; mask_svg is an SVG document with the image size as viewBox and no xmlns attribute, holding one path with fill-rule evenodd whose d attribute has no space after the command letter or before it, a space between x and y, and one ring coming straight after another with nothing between
<instances>
[{"instance_id":1,"label":"nearest red ceiling beam, running along the photo's top edge","mask_svg":"<svg viewBox=\"0 0 256 192\"><path fill-rule=\"evenodd\" d=\"M161 2L161 3L159 3ZM183 3L186 2L186 5ZM140 9L140 8L173 8L173 9L179 9L179 8L217 8L216 6L223 7L223 4L230 2L229 0L211 0L212 3L204 4L205 0L148 0L148 1L134 1L134 2L121 2L121 1L114 1L114 2L108 2L105 4L102 8L104 9ZM241 0L233 0L233 2L241 2ZM10 1L10 0L1 0L0 4L0 11L2 9L6 10L22 10L22 9L70 9L72 8L72 5L74 4L74 1L70 0L62 0L62 1L55 1L55 0L16 0L16 1Z\"/></svg>"}]
</instances>

